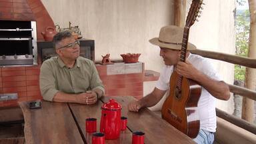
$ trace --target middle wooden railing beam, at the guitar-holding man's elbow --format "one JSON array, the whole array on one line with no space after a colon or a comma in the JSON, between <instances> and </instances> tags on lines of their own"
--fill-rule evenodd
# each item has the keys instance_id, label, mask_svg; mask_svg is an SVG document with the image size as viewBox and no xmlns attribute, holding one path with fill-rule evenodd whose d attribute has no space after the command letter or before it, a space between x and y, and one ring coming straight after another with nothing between
<instances>
[{"instance_id":1,"label":"middle wooden railing beam, at the guitar-holding man's elbow","mask_svg":"<svg viewBox=\"0 0 256 144\"><path fill-rule=\"evenodd\" d=\"M243 97L247 97L256 101L256 91L247 89L245 87L239 87L237 85L229 85L229 90L231 91L231 93L235 93L237 95L241 95Z\"/></svg>"}]
</instances>

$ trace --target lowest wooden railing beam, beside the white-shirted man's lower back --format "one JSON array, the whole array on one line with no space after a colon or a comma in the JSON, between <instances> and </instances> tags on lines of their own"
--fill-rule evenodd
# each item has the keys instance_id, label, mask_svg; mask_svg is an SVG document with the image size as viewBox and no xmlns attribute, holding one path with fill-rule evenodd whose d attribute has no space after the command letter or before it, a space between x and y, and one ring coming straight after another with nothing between
<instances>
[{"instance_id":1,"label":"lowest wooden railing beam, beside the white-shirted man's lower back","mask_svg":"<svg viewBox=\"0 0 256 144\"><path fill-rule=\"evenodd\" d=\"M217 108L216 108L216 115L256 135L256 125L254 125L253 123L248 123L247 121L240 119L239 117L230 115L229 113L226 113L225 111L221 111L220 109L217 109Z\"/></svg>"}]
</instances>

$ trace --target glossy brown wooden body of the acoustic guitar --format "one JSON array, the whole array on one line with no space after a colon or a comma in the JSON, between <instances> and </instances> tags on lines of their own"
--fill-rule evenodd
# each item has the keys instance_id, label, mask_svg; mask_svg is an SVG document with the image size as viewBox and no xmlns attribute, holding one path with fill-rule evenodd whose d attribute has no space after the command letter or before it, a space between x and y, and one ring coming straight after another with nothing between
<instances>
[{"instance_id":1,"label":"glossy brown wooden body of the acoustic guitar","mask_svg":"<svg viewBox=\"0 0 256 144\"><path fill-rule=\"evenodd\" d=\"M162 117L179 131L191 138L197 137L200 129L197 103L201 96L201 85L182 77L181 91L177 89L179 75L176 71L170 78L170 93L162 107Z\"/></svg>"}]
</instances>

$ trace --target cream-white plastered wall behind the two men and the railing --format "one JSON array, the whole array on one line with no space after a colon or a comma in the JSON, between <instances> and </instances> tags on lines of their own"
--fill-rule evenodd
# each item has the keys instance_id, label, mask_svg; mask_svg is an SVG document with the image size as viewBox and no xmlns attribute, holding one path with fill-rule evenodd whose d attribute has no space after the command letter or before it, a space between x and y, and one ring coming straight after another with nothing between
<instances>
[{"instance_id":1,"label":"cream-white plastered wall behind the two men and the railing","mask_svg":"<svg viewBox=\"0 0 256 144\"><path fill-rule=\"evenodd\" d=\"M121 53L142 53L139 61L145 62L145 69L161 71L159 48L148 40L158 37L160 28L172 23L173 0L41 1L55 24L69 27L71 21L73 26L79 25L84 38L95 40L96 60L100 61L106 53L111 54L111 59L121 59ZM204 3L200 21L191 27L190 41L199 49L233 54L235 0ZM233 83L233 65L215 61L215 66L227 83ZM144 90L152 91L147 84ZM231 112L232 101L217 105Z\"/></svg>"}]
</instances>

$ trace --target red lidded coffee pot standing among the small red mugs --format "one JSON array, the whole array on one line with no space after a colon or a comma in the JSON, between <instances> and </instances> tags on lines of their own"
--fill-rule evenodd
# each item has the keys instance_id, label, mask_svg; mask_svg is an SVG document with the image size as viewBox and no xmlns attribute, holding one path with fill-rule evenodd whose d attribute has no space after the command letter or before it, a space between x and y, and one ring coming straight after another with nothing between
<instances>
[{"instance_id":1,"label":"red lidded coffee pot standing among the small red mugs","mask_svg":"<svg viewBox=\"0 0 256 144\"><path fill-rule=\"evenodd\" d=\"M115 99L103 103L101 107L101 133L105 139L118 139L121 131L121 105Z\"/></svg>"}]
</instances>

